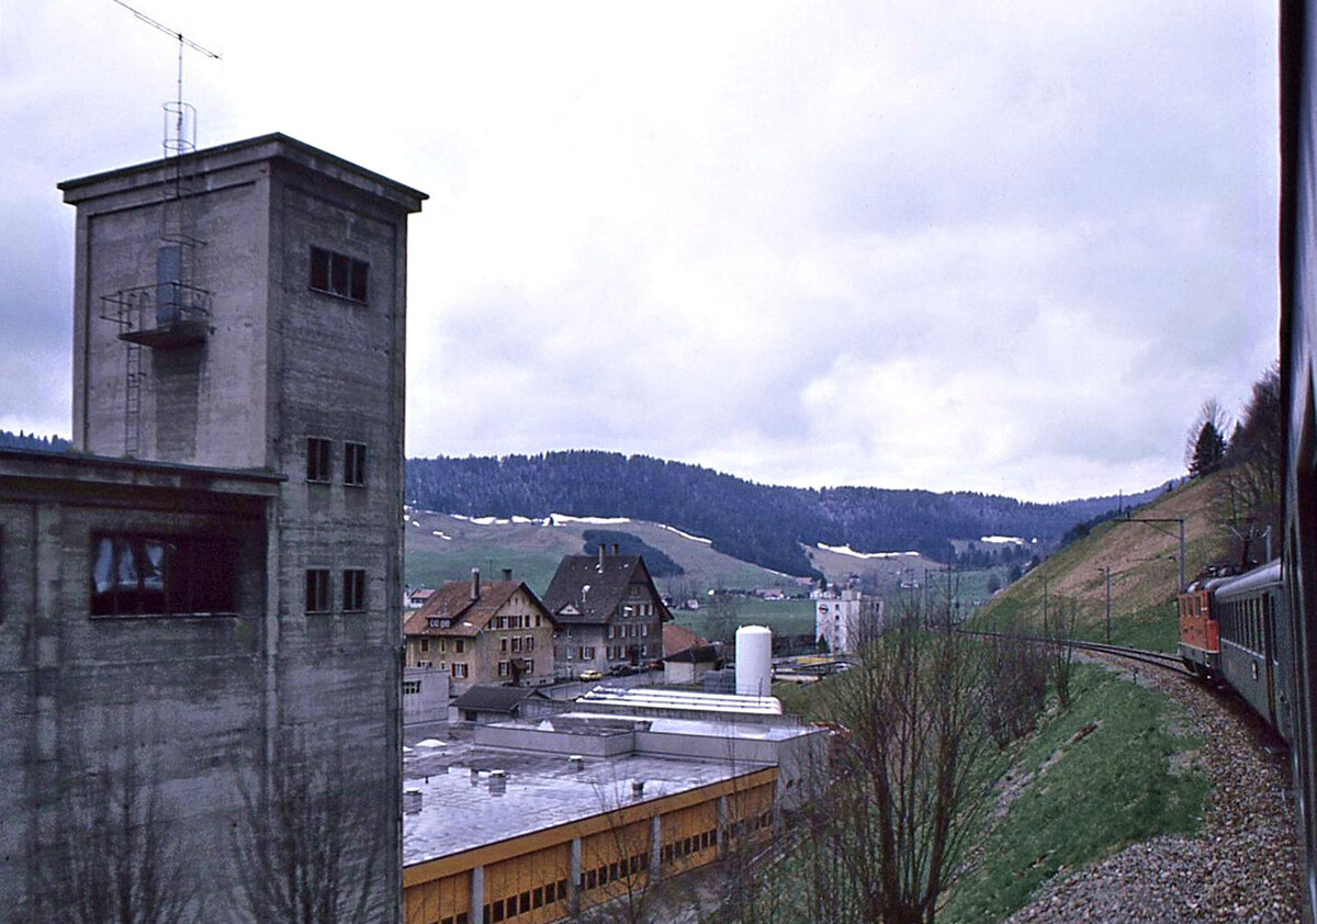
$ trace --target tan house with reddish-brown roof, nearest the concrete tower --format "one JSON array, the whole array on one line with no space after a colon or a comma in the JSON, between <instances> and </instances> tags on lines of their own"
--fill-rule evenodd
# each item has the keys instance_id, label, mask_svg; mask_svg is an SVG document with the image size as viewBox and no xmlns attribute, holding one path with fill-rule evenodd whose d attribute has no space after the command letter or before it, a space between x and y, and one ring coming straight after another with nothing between
<instances>
[{"instance_id":1,"label":"tan house with reddish-brown roof, nearest the concrete tower","mask_svg":"<svg viewBox=\"0 0 1317 924\"><path fill-rule=\"evenodd\" d=\"M553 682L554 621L524 582L450 580L403 624L407 667L439 670L453 695L477 684L539 686Z\"/></svg>"}]
</instances>

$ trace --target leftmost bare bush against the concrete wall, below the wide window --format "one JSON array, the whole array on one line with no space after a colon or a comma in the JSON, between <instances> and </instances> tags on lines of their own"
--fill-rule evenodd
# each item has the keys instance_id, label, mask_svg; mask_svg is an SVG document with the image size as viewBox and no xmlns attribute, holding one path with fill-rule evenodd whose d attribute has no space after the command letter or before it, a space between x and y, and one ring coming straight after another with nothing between
<instances>
[{"instance_id":1,"label":"leftmost bare bush against the concrete wall, below the wide window","mask_svg":"<svg viewBox=\"0 0 1317 924\"><path fill-rule=\"evenodd\" d=\"M173 924L202 920L196 881L167 821L136 724L105 734L95 758L75 738L62 759L58 842L40 871L36 921Z\"/></svg>"}]
</instances>

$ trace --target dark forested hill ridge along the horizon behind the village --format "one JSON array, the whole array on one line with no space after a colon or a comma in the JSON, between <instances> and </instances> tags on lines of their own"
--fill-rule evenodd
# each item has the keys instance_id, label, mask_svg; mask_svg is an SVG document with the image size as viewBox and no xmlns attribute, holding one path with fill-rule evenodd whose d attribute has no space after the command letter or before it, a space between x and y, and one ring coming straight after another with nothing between
<instances>
[{"instance_id":1,"label":"dark forested hill ridge along the horizon behind the village","mask_svg":"<svg viewBox=\"0 0 1317 924\"><path fill-rule=\"evenodd\" d=\"M1137 504L1154 494L1125 503ZM465 516L568 513L649 520L712 540L714 549L743 561L795 575L815 574L801 544L921 552L947 561L950 540L1018 536L1051 546L1067 530L1118 504L1117 498L1033 504L973 492L773 487L682 462L586 450L408 459L407 500Z\"/></svg>"}]
</instances>

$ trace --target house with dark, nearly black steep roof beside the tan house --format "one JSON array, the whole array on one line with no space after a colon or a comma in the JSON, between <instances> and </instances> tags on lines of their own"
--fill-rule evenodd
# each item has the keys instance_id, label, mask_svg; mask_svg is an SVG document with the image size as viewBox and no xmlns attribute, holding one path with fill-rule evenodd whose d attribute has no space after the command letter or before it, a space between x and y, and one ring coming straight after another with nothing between
<instances>
[{"instance_id":1,"label":"house with dark, nearly black steep roof beside the tan house","mask_svg":"<svg viewBox=\"0 0 1317 924\"><path fill-rule=\"evenodd\" d=\"M544 594L553 613L553 658L562 675L608 673L662 657L662 624L672 619L645 559L606 554L564 555Z\"/></svg>"}]
</instances>

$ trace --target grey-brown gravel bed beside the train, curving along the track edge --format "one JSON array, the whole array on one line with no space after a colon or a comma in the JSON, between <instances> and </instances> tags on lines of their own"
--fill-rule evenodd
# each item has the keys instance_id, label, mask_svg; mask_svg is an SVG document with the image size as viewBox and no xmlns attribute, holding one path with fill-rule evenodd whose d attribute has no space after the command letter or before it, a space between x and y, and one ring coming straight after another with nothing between
<instances>
[{"instance_id":1,"label":"grey-brown gravel bed beside the train, curving along the track edge","mask_svg":"<svg viewBox=\"0 0 1317 924\"><path fill-rule=\"evenodd\" d=\"M1009 924L1213 921L1295 924L1299 867L1288 757L1234 700L1139 670L1188 713L1212 782L1195 838L1158 837L1044 886ZM1271 746L1268 746L1271 745Z\"/></svg>"}]
</instances>

